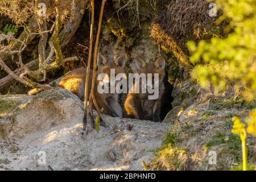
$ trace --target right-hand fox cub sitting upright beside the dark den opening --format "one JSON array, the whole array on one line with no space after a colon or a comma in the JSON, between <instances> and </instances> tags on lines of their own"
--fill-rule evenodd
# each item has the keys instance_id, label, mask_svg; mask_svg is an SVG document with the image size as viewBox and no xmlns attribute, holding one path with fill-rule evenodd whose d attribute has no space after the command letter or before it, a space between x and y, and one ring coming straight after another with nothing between
<instances>
[{"instance_id":1,"label":"right-hand fox cub sitting upright beside the dark den opening","mask_svg":"<svg viewBox=\"0 0 256 182\"><path fill-rule=\"evenodd\" d=\"M165 76L165 64L166 61L163 57L158 58L155 63L146 64L141 58L137 57L135 60L137 68L139 69L139 75L144 75L146 77L147 83L145 81L135 80L135 84L131 86L129 94L125 101L125 110L129 116L134 116L137 119L147 119L154 122L160 121L160 106L162 102L164 84L163 78ZM150 74L151 73L151 74ZM152 75L152 76L150 76ZM158 76L157 79L154 76ZM141 76L140 76L141 78ZM143 79L142 79L143 80ZM148 84L150 83L150 84ZM154 84L152 86L152 84ZM155 86L156 85L156 86ZM158 92L158 96L150 99L150 93L134 92L137 87L146 87L155 89L154 92ZM155 88L154 88L155 86Z\"/></svg>"}]
</instances>

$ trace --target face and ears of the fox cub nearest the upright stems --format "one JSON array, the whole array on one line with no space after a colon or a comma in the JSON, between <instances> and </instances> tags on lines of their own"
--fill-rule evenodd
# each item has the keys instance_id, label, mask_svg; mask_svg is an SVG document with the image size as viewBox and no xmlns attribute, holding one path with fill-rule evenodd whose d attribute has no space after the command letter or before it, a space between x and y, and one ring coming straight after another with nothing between
<instances>
[{"instance_id":1,"label":"face and ears of the fox cub nearest the upright stems","mask_svg":"<svg viewBox=\"0 0 256 182\"><path fill-rule=\"evenodd\" d=\"M118 81L110 81L111 77L119 73L125 73L125 56L119 56L115 61L107 61L100 53L97 58L98 75L101 75L100 84L108 85L109 88L115 86Z\"/></svg>"}]
</instances>

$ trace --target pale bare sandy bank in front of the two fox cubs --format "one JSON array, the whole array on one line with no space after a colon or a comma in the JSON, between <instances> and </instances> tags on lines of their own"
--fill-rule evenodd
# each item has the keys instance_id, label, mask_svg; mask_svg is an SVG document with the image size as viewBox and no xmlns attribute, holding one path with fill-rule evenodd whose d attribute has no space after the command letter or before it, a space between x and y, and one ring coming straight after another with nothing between
<instances>
[{"instance_id":1,"label":"pale bare sandy bank in front of the two fox cubs","mask_svg":"<svg viewBox=\"0 0 256 182\"><path fill-rule=\"evenodd\" d=\"M15 109L0 117L0 160L9 161L0 169L141 170L170 126L103 115L106 128L82 135L83 103L67 90L0 99L15 102Z\"/></svg>"}]
</instances>

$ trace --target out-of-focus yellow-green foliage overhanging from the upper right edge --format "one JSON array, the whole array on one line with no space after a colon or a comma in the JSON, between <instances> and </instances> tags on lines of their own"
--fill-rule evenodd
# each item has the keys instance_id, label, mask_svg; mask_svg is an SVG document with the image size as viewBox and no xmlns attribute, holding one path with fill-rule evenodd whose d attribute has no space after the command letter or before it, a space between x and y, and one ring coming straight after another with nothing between
<instances>
[{"instance_id":1,"label":"out-of-focus yellow-green foliage overhanging from the upper right edge","mask_svg":"<svg viewBox=\"0 0 256 182\"><path fill-rule=\"evenodd\" d=\"M196 64L192 77L203 88L213 85L215 93L232 87L246 101L256 96L256 2L254 0L219 1L217 7L223 15L216 20L220 24L229 20L225 28L227 38L202 40L197 45L188 42L191 62Z\"/></svg>"}]
</instances>

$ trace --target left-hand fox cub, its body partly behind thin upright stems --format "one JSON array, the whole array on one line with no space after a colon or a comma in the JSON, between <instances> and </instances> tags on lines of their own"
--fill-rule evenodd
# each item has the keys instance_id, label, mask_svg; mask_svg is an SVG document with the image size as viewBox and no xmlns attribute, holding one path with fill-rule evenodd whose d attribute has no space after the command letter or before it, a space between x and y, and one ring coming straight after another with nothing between
<instances>
[{"instance_id":1,"label":"left-hand fox cub, its body partly behind thin upright stems","mask_svg":"<svg viewBox=\"0 0 256 182\"><path fill-rule=\"evenodd\" d=\"M125 67L125 57L119 56L115 61L107 61L104 56L98 54L97 66L98 70L96 72L94 96L98 106L100 109L103 109L103 113L106 115L123 117L123 110L118 102L118 93L99 93L98 86L104 82L104 84L107 84L110 89L118 83L117 81L114 83L110 82L110 69L113 69L116 74L124 73L123 67ZM103 75L102 80L97 79L100 74ZM61 78L59 87L71 91L84 101L85 76L85 68L75 69ZM92 70L90 70L89 76L88 96L91 89L90 86L92 85Z\"/></svg>"}]
</instances>

